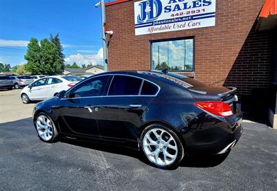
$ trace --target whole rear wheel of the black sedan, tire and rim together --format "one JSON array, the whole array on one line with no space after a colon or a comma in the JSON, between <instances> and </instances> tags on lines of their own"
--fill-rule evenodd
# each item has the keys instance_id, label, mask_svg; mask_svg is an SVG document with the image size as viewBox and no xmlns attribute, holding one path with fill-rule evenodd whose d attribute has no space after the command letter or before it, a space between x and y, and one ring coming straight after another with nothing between
<instances>
[{"instance_id":1,"label":"whole rear wheel of the black sedan, tire and rim together","mask_svg":"<svg viewBox=\"0 0 277 191\"><path fill-rule=\"evenodd\" d=\"M145 157L156 167L175 169L184 158L181 140L174 131L164 125L153 124L146 127L139 142Z\"/></svg>"}]
</instances>

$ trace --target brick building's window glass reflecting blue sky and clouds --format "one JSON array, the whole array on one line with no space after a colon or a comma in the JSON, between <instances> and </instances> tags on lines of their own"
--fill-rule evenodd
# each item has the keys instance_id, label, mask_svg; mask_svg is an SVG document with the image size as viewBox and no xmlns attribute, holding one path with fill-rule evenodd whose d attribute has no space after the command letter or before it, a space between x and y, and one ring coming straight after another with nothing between
<instances>
[{"instance_id":1,"label":"brick building's window glass reflecting blue sky and clouds","mask_svg":"<svg viewBox=\"0 0 277 191\"><path fill-rule=\"evenodd\" d=\"M151 43L151 69L193 71L194 43L191 39L173 39Z\"/></svg>"}]
</instances>

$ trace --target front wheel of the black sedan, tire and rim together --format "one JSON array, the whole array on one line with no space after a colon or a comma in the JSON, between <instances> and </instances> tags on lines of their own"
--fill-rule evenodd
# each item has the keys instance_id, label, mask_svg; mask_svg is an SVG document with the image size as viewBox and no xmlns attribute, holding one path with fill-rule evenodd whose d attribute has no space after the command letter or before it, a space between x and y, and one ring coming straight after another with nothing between
<instances>
[{"instance_id":1,"label":"front wheel of the black sedan, tire and rim together","mask_svg":"<svg viewBox=\"0 0 277 191\"><path fill-rule=\"evenodd\" d=\"M40 140L46 143L56 143L59 135L53 120L48 114L40 112L35 118L35 129Z\"/></svg>"}]
</instances>

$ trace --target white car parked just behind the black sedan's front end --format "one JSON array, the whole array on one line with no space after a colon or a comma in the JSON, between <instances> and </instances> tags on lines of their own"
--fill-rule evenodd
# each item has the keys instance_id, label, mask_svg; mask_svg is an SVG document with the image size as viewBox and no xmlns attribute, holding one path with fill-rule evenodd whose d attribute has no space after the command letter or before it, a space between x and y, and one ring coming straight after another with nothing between
<instances>
[{"instance_id":1,"label":"white car parked just behind the black sedan's front end","mask_svg":"<svg viewBox=\"0 0 277 191\"><path fill-rule=\"evenodd\" d=\"M41 78L24 87L20 93L22 102L52 98L62 90L67 90L80 82L82 78L70 75L53 75Z\"/></svg>"}]
</instances>

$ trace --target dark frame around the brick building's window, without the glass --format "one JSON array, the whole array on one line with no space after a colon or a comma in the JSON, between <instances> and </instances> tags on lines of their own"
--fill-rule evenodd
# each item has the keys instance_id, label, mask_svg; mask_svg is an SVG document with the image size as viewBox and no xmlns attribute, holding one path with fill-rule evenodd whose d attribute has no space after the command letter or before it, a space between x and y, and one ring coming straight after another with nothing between
<instances>
[{"instance_id":1,"label":"dark frame around the brick building's window, without the glass","mask_svg":"<svg viewBox=\"0 0 277 191\"><path fill-rule=\"evenodd\" d=\"M168 41L175 41L175 40L186 40L186 39L193 39L193 69L188 70L168 70L170 72L194 72L195 71L195 36L190 37L176 37L176 38L168 38L168 39L154 39L150 40L150 70L152 70L152 44L155 42L168 42Z\"/></svg>"}]
</instances>

